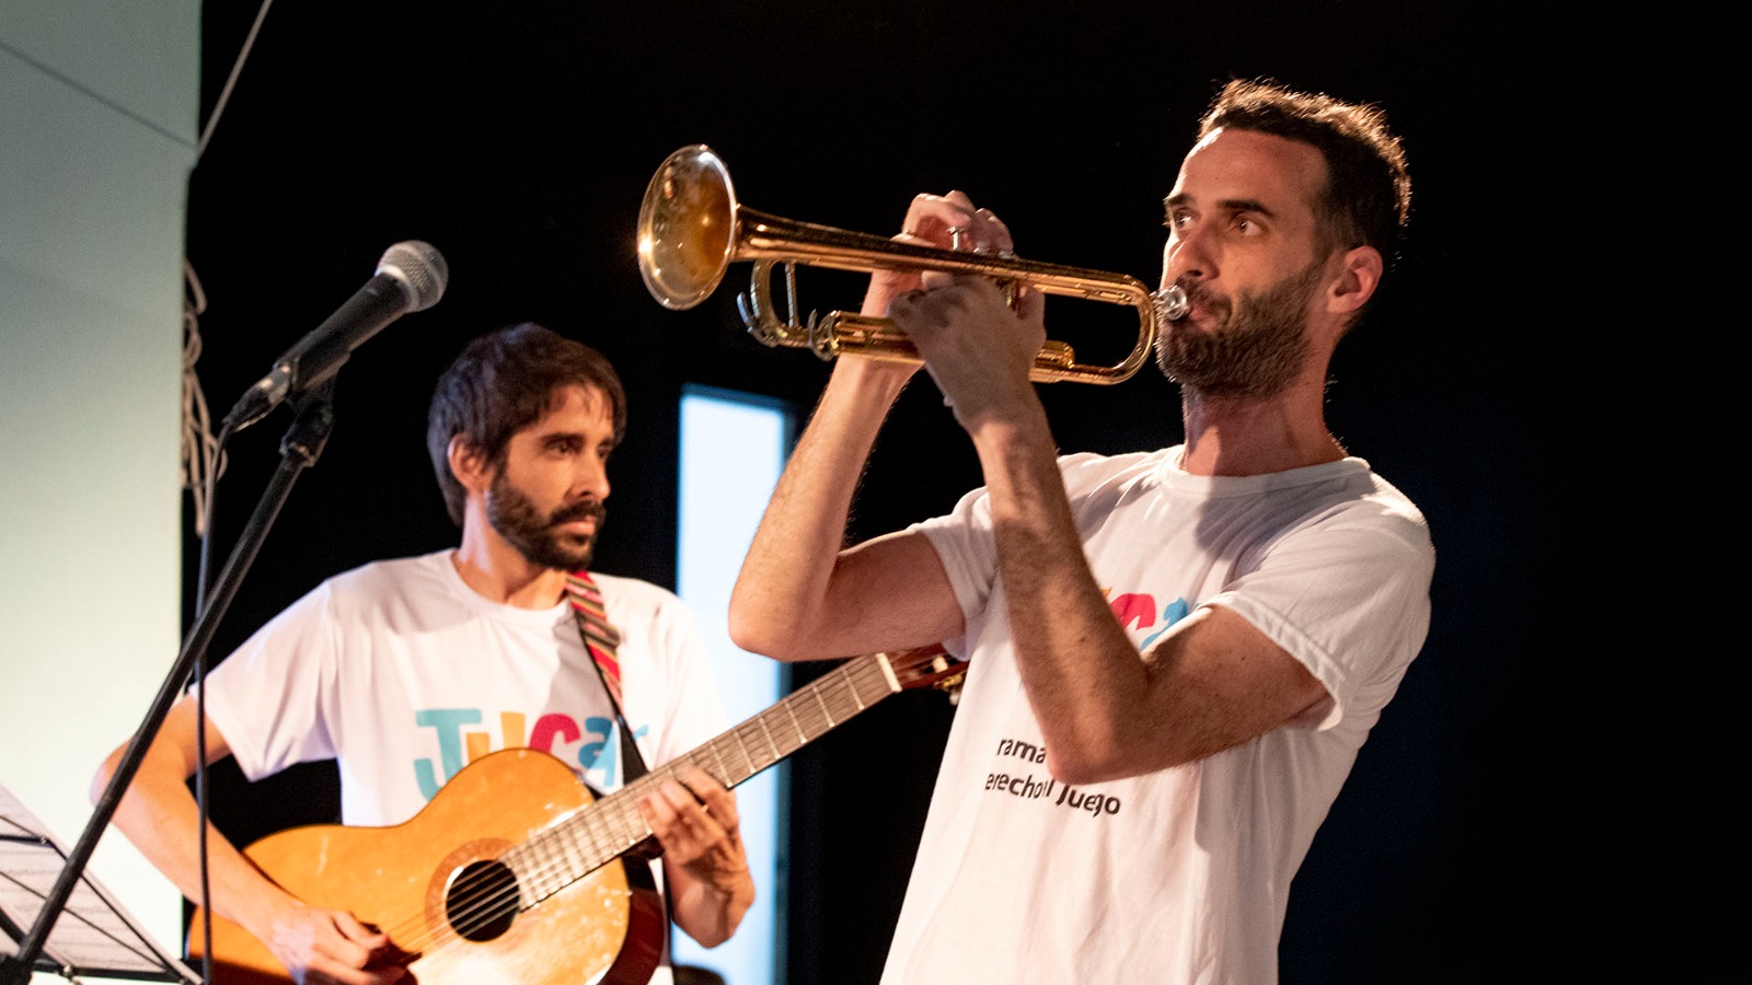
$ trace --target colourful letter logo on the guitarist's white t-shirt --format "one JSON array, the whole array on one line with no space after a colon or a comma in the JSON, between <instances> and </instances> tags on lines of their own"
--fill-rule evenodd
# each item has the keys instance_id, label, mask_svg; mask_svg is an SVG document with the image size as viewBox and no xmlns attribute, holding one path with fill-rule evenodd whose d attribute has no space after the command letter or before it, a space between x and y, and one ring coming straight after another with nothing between
<instances>
[{"instance_id":1,"label":"colourful letter logo on the guitarist's white t-shirt","mask_svg":"<svg viewBox=\"0 0 1752 985\"><path fill-rule=\"evenodd\" d=\"M578 778L596 790L613 790L620 785L620 729L613 719L589 715L583 724L571 715L548 712L524 729L527 715L501 712L498 734L480 726L485 713L480 708L426 708L413 713L413 724L431 729L438 741L438 762L413 761L413 778L420 794L431 801L464 766L501 748L534 748L571 766ZM648 726L634 734L643 738Z\"/></svg>"}]
</instances>

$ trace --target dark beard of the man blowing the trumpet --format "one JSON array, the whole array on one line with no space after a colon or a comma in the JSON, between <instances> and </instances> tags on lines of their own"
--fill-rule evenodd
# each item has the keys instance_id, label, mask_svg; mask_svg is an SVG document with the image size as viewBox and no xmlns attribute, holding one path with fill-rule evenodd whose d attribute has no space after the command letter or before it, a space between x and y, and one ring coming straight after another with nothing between
<instances>
[{"instance_id":1,"label":"dark beard of the man blowing the trumpet","mask_svg":"<svg viewBox=\"0 0 1752 985\"><path fill-rule=\"evenodd\" d=\"M1186 298L1218 315L1211 331L1191 326L1156 335L1156 366L1170 380L1214 398L1261 400L1295 382L1307 356L1307 303L1321 263L1284 277L1258 294L1218 298L1183 284Z\"/></svg>"}]
</instances>

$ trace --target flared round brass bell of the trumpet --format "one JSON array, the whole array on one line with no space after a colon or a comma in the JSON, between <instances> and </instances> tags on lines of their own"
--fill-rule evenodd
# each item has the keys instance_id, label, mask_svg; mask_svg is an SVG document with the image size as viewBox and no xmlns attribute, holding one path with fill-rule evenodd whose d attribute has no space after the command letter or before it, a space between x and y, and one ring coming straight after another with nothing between
<instances>
[{"instance_id":1,"label":"flared round brass bell of the trumpet","mask_svg":"<svg viewBox=\"0 0 1752 985\"><path fill-rule=\"evenodd\" d=\"M657 168L639 203L639 275L666 308L687 310L718 289L736 247L731 172L704 144Z\"/></svg>"}]
</instances>

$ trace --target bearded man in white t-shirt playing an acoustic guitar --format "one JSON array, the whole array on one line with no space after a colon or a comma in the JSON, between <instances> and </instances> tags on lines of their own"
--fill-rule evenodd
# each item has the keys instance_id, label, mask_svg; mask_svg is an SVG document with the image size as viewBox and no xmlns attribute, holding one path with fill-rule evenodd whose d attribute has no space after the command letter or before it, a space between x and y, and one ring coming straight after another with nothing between
<instances>
[{"instance_id":1,"label":"bearded man in white t-shirt playing an acoustic guitar","mask_svg":"<svg viewBox=\"0 0 1752 985\"><path fill-rule=\"evenodd\" d=\"M589 571L624 426L620 380L587 345L531 322L470 344L427 419L461 543L329 578L256 631L207 678L208 762L231 755L258 780L335 759L345 829L389 829L436 808L447 782L487 752L552 754L606 794L715 736L724 712L692 613L657 585ZM198 715L193 696L170 712L114 818L191 899ZM95 792L121 755L98 769ZM477 799L489 808L515 794L510 782L485 789ZM682 766L638 813L662 848L652 868L675 925L704 946L725 941L755 896L734 794ZM210 826L207 840L210 913L272 952L286 980L375 985L410 964L420 981L445 978L420 964L431 939L307 903ZM582 939L555 938L561 950ZM625 966L634 978L671 981L666 939L639 945L650 959Z\"/></svg>"}]
</instances>

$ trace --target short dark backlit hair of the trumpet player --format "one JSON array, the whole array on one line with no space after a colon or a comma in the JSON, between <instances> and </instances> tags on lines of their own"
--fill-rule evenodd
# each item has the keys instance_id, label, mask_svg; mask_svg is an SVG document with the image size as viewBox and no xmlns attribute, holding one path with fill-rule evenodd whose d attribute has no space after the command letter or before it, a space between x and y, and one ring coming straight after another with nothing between
<instances>
[{"instance_id":1,"label":"short dark backlit hair of the trumpet player","mask_svg":"<svg viewBox=\"0 0 1752 985\"><path fill-rule=\"evenodd\" d=\"M1272 79L1232 81L1198 121L1212 130L1253 130L1312 145L1326 158L1326 193L1314 203L1321 235L1335 247L1372 245L1386 263L1398 256L1410 219L1412 179L1405 147L1379 107L1298 93Z\"/></svg>"}]
</instances>

